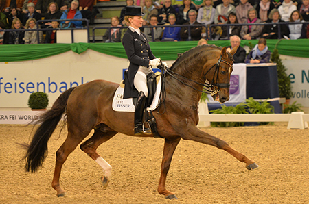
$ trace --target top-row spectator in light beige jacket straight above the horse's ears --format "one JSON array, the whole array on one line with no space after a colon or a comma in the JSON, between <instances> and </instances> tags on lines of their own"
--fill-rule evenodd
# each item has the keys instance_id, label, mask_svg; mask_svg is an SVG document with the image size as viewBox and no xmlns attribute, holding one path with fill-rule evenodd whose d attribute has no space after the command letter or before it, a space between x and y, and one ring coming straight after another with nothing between
<instances>
[{"instance_id":1,"label":"top-row spectator in light beige jacket straight above the horse's ears","mask_svg":"<svg viewBox=\"0 0 309 204\"><path fill-rule=\"evenodd\" d=\"M223 3L219 4L216 7L216 14L214 18L215 24L224 24L227 22L227 17L229 13L234 12L236 13L235 6L229 3L229 0L222 0Z\"/></svg>"}]
</instances>

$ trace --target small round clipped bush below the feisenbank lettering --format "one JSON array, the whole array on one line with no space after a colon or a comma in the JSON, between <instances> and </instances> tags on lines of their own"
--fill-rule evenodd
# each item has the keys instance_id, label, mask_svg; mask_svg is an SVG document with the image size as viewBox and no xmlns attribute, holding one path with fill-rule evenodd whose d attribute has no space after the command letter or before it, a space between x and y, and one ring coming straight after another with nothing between
<instances>
[{"instance_id":1,"label":"small round clipped bush below the feisenbank lettering","mask_svg":"<svg viewBox=\"0 0 309 204\"><path fill-rule=\"evenodd\" d=\"M32 110L46 110L48 105L48 96L44 92L34 92L28 99L28 107Z\"/></svg>"}]
</instances>

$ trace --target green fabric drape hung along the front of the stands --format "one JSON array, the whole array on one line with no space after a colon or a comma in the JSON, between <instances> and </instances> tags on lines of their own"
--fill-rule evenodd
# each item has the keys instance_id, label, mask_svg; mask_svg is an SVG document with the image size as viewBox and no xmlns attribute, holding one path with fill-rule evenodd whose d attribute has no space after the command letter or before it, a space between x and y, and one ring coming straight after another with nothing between
<instances>
[{"instance_id":1,"label":"green fabric drape hung along the front of the stands","mask_svg":"<svg viewBox=\"0 0 309 204\"><path fill-rule=\"evenodd\" d=\"M209 41L218 47L229 46L229 40ZM254 46L258 40L242 40L240 46ZM196 47L196 41L184 42L149 42L152 52L161 60L176 60L178 53L184 53ZM273 51L277 46L279 54L309 58L309 40L267 40L268 49ZM36 60L58 55L67 51L78 54L91 49L106 55L127 58L122 43L73 43L73 44L17 44L0 46L0 62Z\"/></svg>"}]
</instances>

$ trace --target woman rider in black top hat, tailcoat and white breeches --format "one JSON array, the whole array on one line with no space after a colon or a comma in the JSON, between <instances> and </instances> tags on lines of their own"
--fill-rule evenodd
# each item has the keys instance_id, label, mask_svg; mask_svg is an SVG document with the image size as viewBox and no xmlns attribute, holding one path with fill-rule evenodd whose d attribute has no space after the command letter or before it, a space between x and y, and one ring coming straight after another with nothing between
<instances>
[{"instance_id":1,"label":"woman rider in black top hat, tailcoat and white breeches","mask_svg":"<svg viewBox=\"0 0 309 204\"><path fill-rule=\"evenodd\" d=\"M147 75L152 73L152 66L158 66L161 62L152 54L146 35L139 27L143 24L144 13L140 6L127 6L124 21L128 22L129 29L122 38L122 44L130 61L128 74L125 78L124 99L137 97L134 116L134 133L151 134L150 129L144 128L142 118L146 98L148 97ZM163 65L167 64L163 62Z\"/></svg>"}]
</instances>

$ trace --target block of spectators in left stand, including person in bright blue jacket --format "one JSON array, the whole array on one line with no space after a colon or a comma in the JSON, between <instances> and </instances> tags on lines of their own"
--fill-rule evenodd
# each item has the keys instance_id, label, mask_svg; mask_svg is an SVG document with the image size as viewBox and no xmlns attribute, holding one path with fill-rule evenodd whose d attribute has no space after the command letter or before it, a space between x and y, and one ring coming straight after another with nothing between
<instances>
[{"instance_id":1,"label":"block of spectators in left stand, including person in bright blue jacket","mask_svg":"<svg viewBox=\"0 0 309 204\"><path fill-rule=\"evenodd\" d=\"M93 9L94 3L95 0L0 0L0 44L56 43L56 30L44 31L43 35L43 31L32 29L78 28L85 24L66 19L87 18L93 23L98 13ZM53 21L60 19L63 21ZM50 21L36 27L38 20Z\"/></svg>"}]
</instances>

